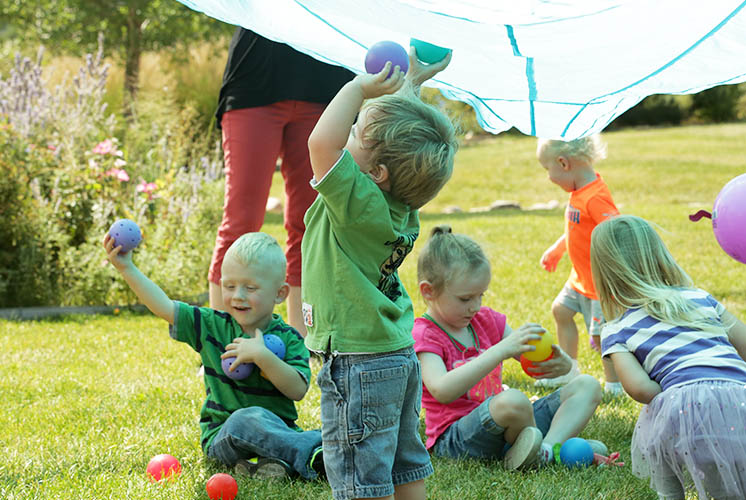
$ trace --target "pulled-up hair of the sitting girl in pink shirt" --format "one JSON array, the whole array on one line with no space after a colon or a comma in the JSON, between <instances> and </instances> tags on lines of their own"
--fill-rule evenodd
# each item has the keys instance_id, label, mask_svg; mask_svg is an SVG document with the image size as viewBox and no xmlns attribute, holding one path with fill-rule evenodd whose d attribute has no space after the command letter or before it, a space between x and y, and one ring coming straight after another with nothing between
<instances>
[{"instance_id":1,"label":"pulled-up hair of the sitting girl in pink shirt","mask_svg":"<svg viewBox=\"0 0 746 500\"><path fill-rule=\"evenodd\" d=\"M477 242L450 226L436 226L417 259L417 281L429 282L438 295L455 275L481 269L489 273L490 261Z\"/></svg>"}]
</instances>

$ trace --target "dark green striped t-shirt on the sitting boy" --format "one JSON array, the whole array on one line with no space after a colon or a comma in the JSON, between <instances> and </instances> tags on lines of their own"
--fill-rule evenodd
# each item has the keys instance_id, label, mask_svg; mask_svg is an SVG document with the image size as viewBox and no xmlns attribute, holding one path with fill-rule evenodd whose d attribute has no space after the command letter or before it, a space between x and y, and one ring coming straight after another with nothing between
<instances>
[{"instance_id":1,"label":"dark green striped t-shirt on the sitting boy","mask_svg":"<svg viewBox=\"0 0 746 500\"><path fill-rule=\"evenodd\" d=\"M199 421L202 450L207 453L212 440L231 413L250 406L266 408L282 418L288 427L300 431L295 425L298 418L295 403L262 377L260 370L255 368L243 380L233 380L223 373L220 355L225 352L225 346L237 337L249 337L243 333L236 320L228 313L208 307L194 307L176 301L174 304L177 312L169 333L174 339L189 344L197 351L205 367L207 397L202 405ZM298 370L308 383L311 368L303 337L278 314L272 315L264 330L265 335L268 333L282 339L285 343L285 362Z\"/></svg>"}]
</instances>

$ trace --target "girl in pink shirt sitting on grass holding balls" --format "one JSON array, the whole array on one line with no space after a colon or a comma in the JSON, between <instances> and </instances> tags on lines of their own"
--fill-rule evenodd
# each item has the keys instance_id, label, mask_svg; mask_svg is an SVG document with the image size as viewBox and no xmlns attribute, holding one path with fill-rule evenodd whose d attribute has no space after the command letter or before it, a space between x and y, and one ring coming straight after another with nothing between
<instances>
[{"instance_id":1,"label":"girl in pink shirt sitting on grass holding balls","mask_svg":"<svg viewBox=\"0 0 746 500\"><path fill-rule=\"evenodd\" d=\"M577 436L601 401L598 381L581 375L531 403L516 389L503 390L502 363L535 349L527 344L546 330L527 323L516 330L504 314L482 307L490 264L469 237L436 227L417 264L427 312L415 320L415 351L422 367L427 448L453 458L504 459L507 469L554 460L553 446ZM567 354L537 363L541 377L570 370ZM607 455L600 441L594 451Z\"/></svg>"}]
</instances>

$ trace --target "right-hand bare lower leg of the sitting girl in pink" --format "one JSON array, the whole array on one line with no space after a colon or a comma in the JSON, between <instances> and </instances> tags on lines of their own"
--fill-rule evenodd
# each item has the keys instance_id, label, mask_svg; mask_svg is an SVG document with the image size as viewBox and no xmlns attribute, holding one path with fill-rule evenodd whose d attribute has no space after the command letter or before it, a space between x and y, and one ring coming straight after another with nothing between
<instances>
[{"instance_id":1,"label":"right-hand bare lower leg of the sitting girl in pink","mask_svg":"<svg viewBox=\"0 0 746 500\"><path fill-rule=\"evenodd\" d=\"M590 375L579 375L560 389L560 407L552 418L544 443L550 447L577 436L601 402L601 385Z\"/></svg>"}]
</instances>

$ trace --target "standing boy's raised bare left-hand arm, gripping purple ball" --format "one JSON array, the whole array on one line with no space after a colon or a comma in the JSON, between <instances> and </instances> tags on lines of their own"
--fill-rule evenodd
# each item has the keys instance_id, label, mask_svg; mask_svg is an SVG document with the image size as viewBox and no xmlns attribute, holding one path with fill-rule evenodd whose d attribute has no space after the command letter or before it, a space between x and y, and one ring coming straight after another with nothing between
<instances>
[{"instance_id":1,"label":"standing boy's raised bare left-hand arm, gripping purple ball","mask_svg":"<svg viewBox=\"0 0 746 500\"><path fill-rule=\"evenodd\" d=\"M404 83L398 66L391 77L386 78L390 69L391 63L387 62L378 74L357 75L340 89L321 114L308 137L308 153L316 180L321 180L342 155L363 101L393 94Z\"/></svg>"}]
</instances>

